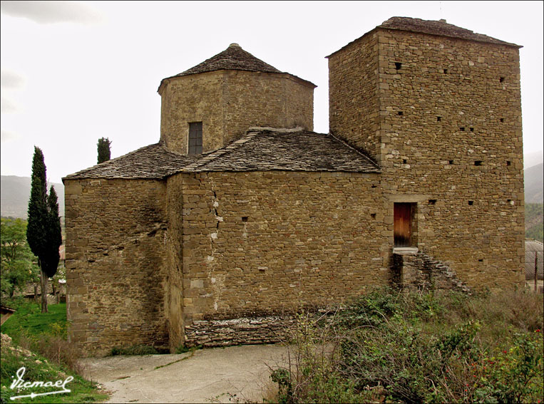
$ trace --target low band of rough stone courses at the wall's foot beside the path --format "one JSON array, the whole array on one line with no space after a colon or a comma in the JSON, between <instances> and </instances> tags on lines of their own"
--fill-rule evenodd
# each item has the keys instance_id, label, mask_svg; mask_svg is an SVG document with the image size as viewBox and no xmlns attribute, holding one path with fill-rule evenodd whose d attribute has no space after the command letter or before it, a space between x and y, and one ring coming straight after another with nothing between
<instances>
[{"instance_id":1,"label":"low band of rough stone courses at the wall's foot beside the path","mask_svg":"<svg viewBox=\"0 0 544 404\"><path fill-rule=\"evenodd\" d=\"M186 346L230 346L285 341L296 323L292 316L197 320L185 326Z\"/></svg>"}]
</instances>

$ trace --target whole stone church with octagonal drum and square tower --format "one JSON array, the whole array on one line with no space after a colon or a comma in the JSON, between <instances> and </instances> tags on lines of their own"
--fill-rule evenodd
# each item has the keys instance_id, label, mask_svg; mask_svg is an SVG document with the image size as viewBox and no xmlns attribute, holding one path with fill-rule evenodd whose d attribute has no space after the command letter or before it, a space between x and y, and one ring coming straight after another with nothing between
<instances>
[{"instance_id":1,"label":"whole stone church with octagonal drum and square tower","mask_svg":"<svg viewBox=\"0 0 544 404\"><path fill-rule=\"evenodd\" d=\"M376 285L520 284L519 48L391 18L327 56L330 133L235 43L163 79L158 143L63 179L71 341L277 341Z\"/></svg>"}]
</instances>

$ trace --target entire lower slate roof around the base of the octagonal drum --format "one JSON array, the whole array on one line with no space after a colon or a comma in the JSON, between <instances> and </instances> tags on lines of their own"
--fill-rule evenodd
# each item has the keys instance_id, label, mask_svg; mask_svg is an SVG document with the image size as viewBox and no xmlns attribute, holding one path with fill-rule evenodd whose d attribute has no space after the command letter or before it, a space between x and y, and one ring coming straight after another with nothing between
<instances>
[{"instance_id":1,"label":"entire lower slate roof around the base of the octagonal drum","mask_svg":"<svg viewBox=\"0 0 544 404\"><path fill-rule=\"evenodd\" d=\"M178 155L155 143L64 179L162 179L178 172L272 170L381 172L369 157L332 135L259 128L204 155Z\"/></svg>"}]
</instances>

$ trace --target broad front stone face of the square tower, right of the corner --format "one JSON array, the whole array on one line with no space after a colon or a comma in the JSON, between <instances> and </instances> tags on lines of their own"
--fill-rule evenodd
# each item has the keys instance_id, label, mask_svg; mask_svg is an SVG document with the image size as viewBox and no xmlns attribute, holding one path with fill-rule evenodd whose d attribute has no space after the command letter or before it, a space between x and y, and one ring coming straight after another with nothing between
<instances>
[{"instance_id":1,"label":"broad front stone face of the square tower, right of the corner","mask_svg":"<svg viewBox=\"0 0 544 404\"><path fill-rule=\"evenodd\" d=\"M513 287L524 241L518 49L394 30L378 42L382 184L429 195L417 247L469 286Z\"/></svg>"}]
</instances>

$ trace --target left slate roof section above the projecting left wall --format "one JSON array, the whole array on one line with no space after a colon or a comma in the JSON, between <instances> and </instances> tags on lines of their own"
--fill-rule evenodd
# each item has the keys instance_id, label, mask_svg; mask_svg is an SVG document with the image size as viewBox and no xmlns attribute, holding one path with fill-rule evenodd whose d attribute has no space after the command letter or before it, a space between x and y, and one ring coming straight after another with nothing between
<instances>
[{"instance_id":1,"label":"left slate roof section above the projecting left wall","mask_svg":"<svg viewBox=\"0 0 544 404\"><path fill-rule=\"evenodd\" d=\"M197 160L196 157L169 152L163 144L155 143L74 174L66 175L65 178L67 180L73 178L160 179L180 172L185 165L195 160Z\"/></svg>"}]
</instances>

